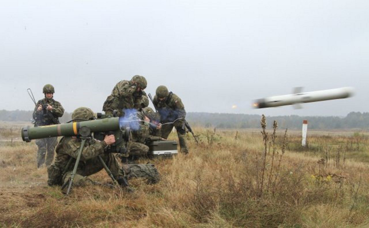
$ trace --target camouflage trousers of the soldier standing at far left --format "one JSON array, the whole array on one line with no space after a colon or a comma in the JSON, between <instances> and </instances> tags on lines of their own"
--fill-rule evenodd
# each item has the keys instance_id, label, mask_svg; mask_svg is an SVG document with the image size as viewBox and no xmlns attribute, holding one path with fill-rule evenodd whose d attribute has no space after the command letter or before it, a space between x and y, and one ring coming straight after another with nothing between
<instances>
[{"instance_id":1,"label":"camouflage trousers of the soldier standing at far left","mask_svg":"<svg viewBox=\"0 0 369 228\"><path fill-rule=\"evenodd\" d=\"M37 150L37 168L45 163L51 165L54 160L54 151L58 140L56 137L36 139ZM45 159L46 157L46 159Z\"/></svg>"}]
</instances>

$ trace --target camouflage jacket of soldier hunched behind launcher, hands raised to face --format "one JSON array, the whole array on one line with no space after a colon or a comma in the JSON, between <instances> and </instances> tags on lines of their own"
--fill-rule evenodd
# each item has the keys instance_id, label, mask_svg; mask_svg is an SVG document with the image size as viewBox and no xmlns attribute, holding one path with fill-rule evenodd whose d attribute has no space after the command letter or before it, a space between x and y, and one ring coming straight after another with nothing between
<instances>
[{"instance_id":1,"label":"camouflage jacket of soldier hunched behind launcher, hands raised to face","mask_svg":"<svg viewBox=\"0 0 369 228\"><path fill-rule=\"evenodd\" d=\"M136 89L137 87L131 81L118 82L104 102L105 114L113 115L113 111L117 110L118 116L124 116L124 109L140 109L142 96L147 97L147 95L145 91L136 91Z\"/></svg>"}]
</instances>

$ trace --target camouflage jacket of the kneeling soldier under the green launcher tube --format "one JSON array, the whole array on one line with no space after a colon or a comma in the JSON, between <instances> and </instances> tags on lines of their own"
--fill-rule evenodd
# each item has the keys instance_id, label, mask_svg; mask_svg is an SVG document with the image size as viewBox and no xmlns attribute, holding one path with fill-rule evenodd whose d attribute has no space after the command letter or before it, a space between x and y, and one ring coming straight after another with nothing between
<instances>
[{"instance_id":1,"label":"camouflage jacket of the kneeling soldier under the green launcher tube","mask_svg":"<svg viewBox=\"0 0 369 228\"><path fill-rule=\"evenodd\" d=\"M97 157L104 153L104 148L107 146L105 141L97 141L96 139L86 140L85 146L83 147L78 169L83 170L86 166L86 161ZM79 148L81 147L81 141L75 137L62 137L56 146L55 152L55 166L58 166L63 170L68 163L69 159L77 159ZM68 170L72 170L75 164L75 160L69 165Z\"/></svg>"}]
</instances>

